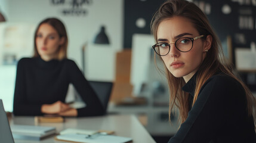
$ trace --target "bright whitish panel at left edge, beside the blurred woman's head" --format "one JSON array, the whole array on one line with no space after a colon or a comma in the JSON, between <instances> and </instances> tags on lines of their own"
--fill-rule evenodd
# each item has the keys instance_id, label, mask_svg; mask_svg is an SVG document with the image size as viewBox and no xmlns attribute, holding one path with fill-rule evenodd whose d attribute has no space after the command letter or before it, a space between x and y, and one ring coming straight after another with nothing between
<instances>
[{"instance_id":1,"label":"bright whitish panel at left edge, beside the blurred woman's head","mask_svg":"<svg viewBox=\"0 0 256 143\"><path fill-rule=\"evenodd\" d=\"M32 57L35 26L19 23L1 26L0 64L16 64L22 57Z\"/></svg>"}]
</instances>

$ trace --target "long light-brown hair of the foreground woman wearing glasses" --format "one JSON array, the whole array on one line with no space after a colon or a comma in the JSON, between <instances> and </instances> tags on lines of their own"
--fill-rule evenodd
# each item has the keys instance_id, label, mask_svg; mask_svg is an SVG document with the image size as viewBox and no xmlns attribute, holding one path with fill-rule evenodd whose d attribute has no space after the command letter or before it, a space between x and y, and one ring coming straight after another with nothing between
<instances>
[{"instance_id":1,"label":"long light-brown hair of the foreground woman wearing glasses","mask_svg":"<svg viewBox=\"0 0 256 143\"><path fill-rule=\"evenodd\" d=\"M232 73L232 66L229 66L230 63L224 58L223 50L221 47L220 40L215 35L214 30L212 30L211 25L209 24L208 18L206 15L198 8L195 4L189 1L184 0L170 0L166 1L161 5L155 15L153 15L151 22L151 30L155 41L157 38L157 30L159 24L174 16L184 17L189 19L196 30L198 30L199 35L211 35L212 36L212 45L208 52L206 52L206 57L203 60L201 66L198 69L196 77L196 89L195 96L193 98L193 104L198 98L200 89L202 88L203 83L213 76L217 71L222 71L223 73L233 77L238 80L238 82L243 86L246 93L247 107L249 116L254 116L256 119L256 100L252 95L251 91L246 87L246 85ZM205 36L206 37L206 36ZM205 37L202 38L205 40ZM187 92L181 90L182 86L186 83L183 77L174 77L167 67L165 66L166 78L169 85L169 120L172 108L175 106L179 109L179 119L183 123L188 116L190 110L189 96ZM171 121L171 120L170 120ZM255 121L254 121L255 122ZM255 123L254 123L255 125ZM256 127L255 127L256 129Z\"/></svg>"}]
</instances>

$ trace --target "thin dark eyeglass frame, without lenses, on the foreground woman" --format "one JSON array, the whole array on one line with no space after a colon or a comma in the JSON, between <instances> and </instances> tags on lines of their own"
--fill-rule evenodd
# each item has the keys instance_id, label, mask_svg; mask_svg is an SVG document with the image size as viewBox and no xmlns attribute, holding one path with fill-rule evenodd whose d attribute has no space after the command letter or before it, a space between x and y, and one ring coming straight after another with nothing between
<instances>
[{"instance_id":1,"label":"thin dark eyeglass frame, without lenses, on the foreground woman","mask_svg":"<svg viewBox=\"0 0 256 143\"><path fill-rule=\"evenodd\" d=\"M167 52L165 55L169 54L169 51L170 51L170 49L171 49L171 45L170 45L171 43L174 43L174 44L175 44L175 48L178 49L178 51L180 51L180 52L189 52L189 51L193 48L194 41L195 41L196 39L202 38L202 37L204 37L204 36L205 36L205 35L200 35L200 36L196 36L195 38L183 37L183 38L190 39L190 40L192 41L192 46L191 46L191 48L190 48L188 51L181 51L180 49L177 48L177 45L176 45L176 44L177 44L177 41L180 40L181 38L178 38L175 42L169 42L169 43L167 43L168 46L169 46L169 50L168 50L168 52ZM159 43L166 43L166 42L159 42ZM154 49L155 52L156 52L156 45L158 45L159 43L156 43L155 45L152 46L152 48ZM156 52L156 54L158 54L158 52ZM158 55L160 55L160 56L165 56L165 55L161 55L161 54L158 54Z\"/></svg>"}]
</instances>

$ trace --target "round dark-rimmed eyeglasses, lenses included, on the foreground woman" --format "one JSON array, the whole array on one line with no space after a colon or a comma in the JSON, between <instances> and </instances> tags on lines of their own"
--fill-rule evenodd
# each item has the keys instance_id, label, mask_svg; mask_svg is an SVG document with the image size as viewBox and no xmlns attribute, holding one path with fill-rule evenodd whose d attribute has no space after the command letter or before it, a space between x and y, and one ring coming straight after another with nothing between
<instances>
[{"instance_id":1,"label":"round dark-rimmed eyeglasses, lenses included, on the foreground woman","mask_svg":"<svg viewBox=\"0 0 256 143\"><path fill-rule=\"evenodd\" d=\"M177 41L170 42L170 43L160 42L160 43L156 43L155 45L153 45L152 48L154 49L156 54L158 54L160 56L165 56L169 53L169 51L171 49L170 44L175 43L175 47L178 49L178 51L189 52L193 48L193 42L196 39L202 38L203 36L205 36L205 35L200 35L195 38L179 38L179 39L177 39Z\"/></svg>"}]
</instances>

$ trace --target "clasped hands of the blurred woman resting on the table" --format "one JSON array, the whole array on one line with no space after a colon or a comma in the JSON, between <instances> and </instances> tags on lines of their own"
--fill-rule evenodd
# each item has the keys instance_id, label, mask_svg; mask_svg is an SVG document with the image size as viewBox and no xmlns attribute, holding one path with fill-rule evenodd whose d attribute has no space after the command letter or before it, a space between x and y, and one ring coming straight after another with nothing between
<instances>
[{"instance_id":1,"label":"clasped hands of the blurred woman resting on the table","mask_svg":"<svg viewBox=\"0 0 256 143\"><path fill-rule=\"evenodd\" d=\"M70 109L69 105L64 104L61 101L54 102L53 104L44 104L41 107L42 113L45 113L45 114L59 114L69 109Z\"/></svg>"}]
</instances>

